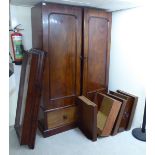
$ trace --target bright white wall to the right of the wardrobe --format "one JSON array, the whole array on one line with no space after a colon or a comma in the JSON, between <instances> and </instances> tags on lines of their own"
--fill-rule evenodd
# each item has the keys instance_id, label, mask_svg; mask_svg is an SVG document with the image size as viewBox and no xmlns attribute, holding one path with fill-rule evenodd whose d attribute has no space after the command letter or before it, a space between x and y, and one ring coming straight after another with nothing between
<instances>
[{"instance_id":1,"label":"bright white wall to the right of the wardrobe","mask_svg":"<svg viewBox=\"0 0 155 155\"><path fill-rule=\"evenodd\" d=\"M146 9L134 8L112 14L109 89L121 89L139 97L132 127L140 127L145 105Z\"/></svg>"}]
</instances>

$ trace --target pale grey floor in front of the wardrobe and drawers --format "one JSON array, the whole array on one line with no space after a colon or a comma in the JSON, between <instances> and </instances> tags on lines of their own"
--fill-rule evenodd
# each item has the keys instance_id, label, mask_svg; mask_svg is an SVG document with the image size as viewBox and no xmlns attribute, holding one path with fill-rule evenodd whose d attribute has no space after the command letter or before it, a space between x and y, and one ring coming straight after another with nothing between
<instances>
[{"instance_id":1,"label":"pale grey floor in front of the wardrobe and drawers","mask_svg":"<svg viewBox=\"0 0 155 155\"><path fill-rule=\"evenodd\" d=\"M145 155L146 143L125 131L96 142L87 139L78 129L72 129L48 138L37 131L35 149L20 146L15 130L10 127L10 155Z\"/></svg>"}]
</instances>

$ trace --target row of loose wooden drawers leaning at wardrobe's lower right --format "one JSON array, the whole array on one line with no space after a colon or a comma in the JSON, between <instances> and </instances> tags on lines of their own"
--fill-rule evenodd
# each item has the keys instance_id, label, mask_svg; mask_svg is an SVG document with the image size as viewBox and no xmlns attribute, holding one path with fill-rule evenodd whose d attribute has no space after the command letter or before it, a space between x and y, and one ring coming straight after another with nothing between
<instances>
[{"instance_id":1,"label":"row of loose wooden drawers leaning at wardrobe's lower right","mask_svg":"<svg viewBox=\"0 0 155 155\"><path fill-rule=\"evenodd\" d=\"M93 141L97 136L130 130L138 97L121 90L96 93L94 102L79 96L79 128Z\"/></svg>"}]
</instances>

